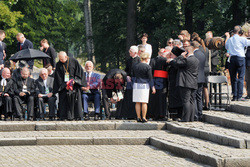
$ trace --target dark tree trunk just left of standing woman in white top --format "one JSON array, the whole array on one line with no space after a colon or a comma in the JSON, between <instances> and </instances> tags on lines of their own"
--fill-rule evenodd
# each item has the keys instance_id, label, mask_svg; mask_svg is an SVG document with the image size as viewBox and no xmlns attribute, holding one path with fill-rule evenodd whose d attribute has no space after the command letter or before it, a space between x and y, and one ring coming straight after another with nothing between
<instances>
[{"instance_id":1,"label":"dark tree trunk just left of standing woman in white top","mask_svg":"<svg viewBox=\"0 0 250 167\"><path fill-rule=\"evenodd\" d=\"M126 58L129 57L129 48L135 45L136 31L136 0L128 0L127 9L127 40L126 40Z\"/></svg>"}]
</instances>

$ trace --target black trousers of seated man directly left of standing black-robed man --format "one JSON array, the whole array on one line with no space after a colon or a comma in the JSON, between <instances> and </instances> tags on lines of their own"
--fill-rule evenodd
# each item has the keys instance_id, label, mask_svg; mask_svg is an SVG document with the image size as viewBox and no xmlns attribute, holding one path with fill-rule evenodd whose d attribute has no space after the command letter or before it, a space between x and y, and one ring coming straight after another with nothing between
<instances>
[{"instance_id":1,"label":"black trousers of seated man directly left of standing black-robed man","mask_svg":"<svg viewBox=\"0 0 250 167\"><path fill-rule=\"evenodd\" d=\"M55 110L56 110L56 97L39 97L38 98L38 110L37 110L37 117L44 118L44 107L45 104L48 103L49 105L49 117L55 117Z\"/></svg>"}]
</instances>

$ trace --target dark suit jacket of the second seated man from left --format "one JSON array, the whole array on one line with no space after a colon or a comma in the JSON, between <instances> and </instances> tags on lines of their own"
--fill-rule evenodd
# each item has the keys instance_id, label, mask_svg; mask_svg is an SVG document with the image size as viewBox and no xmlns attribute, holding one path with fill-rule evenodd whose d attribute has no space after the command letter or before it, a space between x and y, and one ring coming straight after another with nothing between
<instances>
[{"instance_id":1,"label":"dark suit jacket of the second seated man from left","mask_svg":"<svg viewBox=\"0 0 250 167\"><path fill-rule=\"evenodd\" d=\"M27 78L27 90L29 93L26 93L26 95L35 95L36 93L36 86L35 86L35 80L28 77ZM14 84L14 91L15 95L19 96L20 92L23 90L23 79L22 77L17 78L15 84Z\"/></svg>"}]
</instances>

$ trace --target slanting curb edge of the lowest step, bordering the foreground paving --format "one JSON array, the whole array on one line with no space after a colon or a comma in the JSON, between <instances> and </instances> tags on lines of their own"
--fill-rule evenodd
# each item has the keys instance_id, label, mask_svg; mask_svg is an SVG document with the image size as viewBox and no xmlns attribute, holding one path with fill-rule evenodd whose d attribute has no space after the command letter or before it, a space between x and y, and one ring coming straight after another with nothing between
<instances>
[{"instance_id":1,"label":"slanting curb edge of the lowest step, bordering the foreground paving","mask_svg":"<svg viewBox=\"0 0 250 167\"><path fill-rule=\"evenodd\" d=\"M224 166L224 162L220 157L203 153L191 147L180 146L175 143L157 139L155 137L150 137L149 143L150 145L158 149L169 151L180 157L193 159L196 162L208 164L211 166L218 166L218 167Z\"/></svg>"}]
</instances>

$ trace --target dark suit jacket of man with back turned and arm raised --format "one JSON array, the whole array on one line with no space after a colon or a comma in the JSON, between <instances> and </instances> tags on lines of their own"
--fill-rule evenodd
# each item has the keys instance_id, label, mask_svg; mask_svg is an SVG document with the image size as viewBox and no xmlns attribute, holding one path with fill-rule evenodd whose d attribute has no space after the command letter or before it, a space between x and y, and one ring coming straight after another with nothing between
<instances>
[{"instance_id":1,"label":"dark suit jacket of man with back turned and arm raised","mask_svg":"<svg viewBox=\"0 0 250 167\"><path fill-rule=\"evenodd\" d=\"M176 86L197 89L199 60L194 55L179 56L172 63L178 67Z\"/></svg>"}]
</instances>

